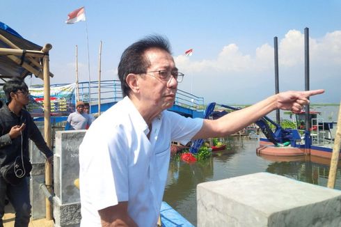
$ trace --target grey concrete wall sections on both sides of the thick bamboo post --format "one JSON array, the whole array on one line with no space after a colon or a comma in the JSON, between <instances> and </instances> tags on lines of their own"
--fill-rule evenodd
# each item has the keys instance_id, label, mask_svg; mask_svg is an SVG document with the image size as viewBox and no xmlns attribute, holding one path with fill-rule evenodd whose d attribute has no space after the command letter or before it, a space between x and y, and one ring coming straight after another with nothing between
<instances>
[{"instance_id":1,"label":"grey concrete wall sections on both sides of the thick bamboo post","mask_svg":"<svg viewBox=\"0 0 341 227\"><path fill-rule=\"evenodd\" d=\"M44 133L44 123L36 123ZM78 148L85 130L58 131L54 144L54 219L55 226L79 226L81 220L79 189L74 180L79 178ZM45 182L45 156L29 141L30 159L33 166L30 180L32 218L42 219L46 215L45 194L40 185Z\"/></svg>"}]
</instances>

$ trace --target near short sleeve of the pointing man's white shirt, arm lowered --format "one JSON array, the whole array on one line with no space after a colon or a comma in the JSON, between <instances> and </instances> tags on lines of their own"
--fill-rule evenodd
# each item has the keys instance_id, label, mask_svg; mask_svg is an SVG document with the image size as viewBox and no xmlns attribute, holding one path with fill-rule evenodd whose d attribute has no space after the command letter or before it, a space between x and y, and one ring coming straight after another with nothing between
<instances>
[{"instance_id":1,"label":"near short sleeve of the pointing man's white shirt, arm lowered","mask_svg":"<svg viewBox=\"0 0 341 227\"><path fill-rule=\"evenodd\" d=\"M79 148L81 194L96 210L128 201L129 148L122 134L119 128L105 134L91 130Z\"/></svg>"}]
</instances>

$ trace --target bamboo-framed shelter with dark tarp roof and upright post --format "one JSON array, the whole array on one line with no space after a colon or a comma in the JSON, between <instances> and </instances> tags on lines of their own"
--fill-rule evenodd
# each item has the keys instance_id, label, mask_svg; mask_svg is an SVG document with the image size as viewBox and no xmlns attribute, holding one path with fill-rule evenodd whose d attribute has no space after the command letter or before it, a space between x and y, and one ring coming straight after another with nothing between
<instances>
[{"instance_id":1,"label":"bamboo-framed shelter with dark tarp roof and upright post","mask_svg":"<svg viewBox=\"0 0 341 227\"><path fill-rule=\"evenodd\" d=\"M1 22L0 22L1 23ZM1 23L0 25L5 25ZM9 27L8 27L9 28ZM15 31L0 29L0 87L9 79L19 77L24 79L29 75L35 75L44 81L44 138L47 146L51 148L51 102L50 102L50 78L49 50L51 44L40 47L25 40ZM6 47L6 48L2 48ZM45 184L52 191L51 164L46 162ZM46 199L46 219L52 219L51 203Z\"/></svg>"}]
</instances>

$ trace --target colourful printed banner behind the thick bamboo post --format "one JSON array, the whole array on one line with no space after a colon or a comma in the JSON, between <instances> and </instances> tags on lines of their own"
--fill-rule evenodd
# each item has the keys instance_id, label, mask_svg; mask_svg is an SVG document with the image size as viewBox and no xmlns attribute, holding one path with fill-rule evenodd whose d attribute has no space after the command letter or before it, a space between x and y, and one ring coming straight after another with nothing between
<instances>
[{"instance_id":1,"label":"colourful printed banner behind the thick bamboo post","mask_svg":"<svg viewBox=\"0 0 341 227\"><path fill-rule=\"evenodd\" d=\"M54 86L50 88L51 116L68 116L75 111L76 84ZM30 102L27 110L32 117L44 116L44 88L29 88Z\"/></svg>"}]
</instances>

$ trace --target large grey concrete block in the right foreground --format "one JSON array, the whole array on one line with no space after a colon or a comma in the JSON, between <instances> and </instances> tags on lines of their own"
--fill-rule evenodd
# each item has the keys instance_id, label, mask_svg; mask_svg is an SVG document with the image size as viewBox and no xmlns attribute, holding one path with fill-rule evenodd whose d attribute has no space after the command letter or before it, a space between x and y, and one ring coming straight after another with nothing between
<instances>
[{"instance_id":1,"label":"large grey concrete block in the right foreground","mask_svg":"<svg viewBox=\"0 0 341 227\"><path fill-rule=\"evenodd\" d=\"M197 186L198 226L340 226L341 191L271 173Z\"/></svg>"}]
</instances>

